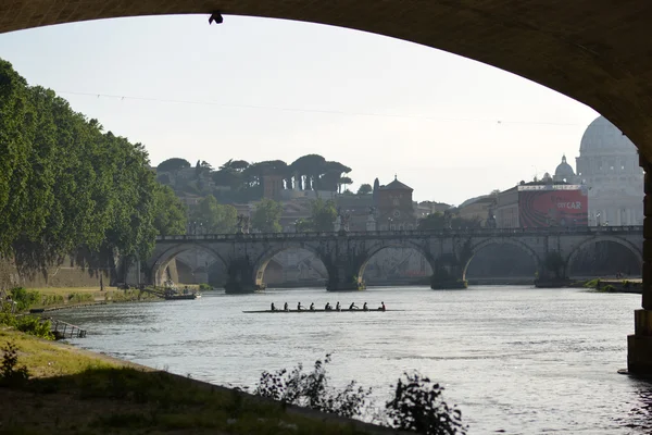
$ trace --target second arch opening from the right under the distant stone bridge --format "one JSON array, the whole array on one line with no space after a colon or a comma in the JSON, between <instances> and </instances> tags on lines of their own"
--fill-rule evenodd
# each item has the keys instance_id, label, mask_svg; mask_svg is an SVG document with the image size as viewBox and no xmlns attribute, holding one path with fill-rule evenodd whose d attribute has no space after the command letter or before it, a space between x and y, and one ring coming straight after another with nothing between
<instances>
[{"instance_id":1,"label":"second arch opening from the right under the distant stone bridge","mask_svg":"<svg viewBox=\"0 0 652 435\"><path fill-rule=\"evenodd\" d=\"M522 246L497 241L476 250L468 260L464 279L469 284L531 284L537 260Z\"/></svg>"}]
</instances>

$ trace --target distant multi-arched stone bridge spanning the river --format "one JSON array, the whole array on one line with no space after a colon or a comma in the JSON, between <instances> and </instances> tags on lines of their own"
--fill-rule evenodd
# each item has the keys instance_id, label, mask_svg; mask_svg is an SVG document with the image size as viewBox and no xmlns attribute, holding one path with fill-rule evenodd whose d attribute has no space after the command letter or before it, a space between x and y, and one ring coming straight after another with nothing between
<instances>
[{"instance_id":1,"label":"distant multi-arched stone bridge spanning the river","mask_svg":"<svg viewBox=\"0 0 652 435\"><path fill-rule=\"evenodd\" d=\"M152 257L140 262L140 272L128 275L130 284L137 279L162 285L165 269L177 254L202 249L224 263L228 273L227 293L251 293L264 287L264 271L275 254L300 248L313 252L324 263L328 290L354 290L363 288L364 270L375 253L385 248L413 248L430 263L432 288L459 288L465 286L466 269L473 257L489 245L517 246L531 257L539 277L546 278L560 273L564 277L579 251L599 241L623 245L642 266L642 240L641 226L168 236L159 237ZM556 257L555 270L550 270L551 253Z\"/></svg>"}]
</instances>

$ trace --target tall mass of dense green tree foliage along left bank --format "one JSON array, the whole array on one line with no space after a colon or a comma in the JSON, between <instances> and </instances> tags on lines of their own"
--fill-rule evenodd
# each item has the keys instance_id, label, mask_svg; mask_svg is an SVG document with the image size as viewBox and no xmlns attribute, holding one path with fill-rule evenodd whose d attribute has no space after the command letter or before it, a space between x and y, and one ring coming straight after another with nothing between
<instances>
[{"instance_id":1,"label":"tall mass of dense green tree foliage along left bank","mask_svg":"<svg viewBox=\"0 0 652 435\"><path fill-rule=\"evenodd\" d=\"M139 144L103 133L0 61L0 257L34 273L87 248L148 257L156 182Z\"/></svg>"}]
</instances>

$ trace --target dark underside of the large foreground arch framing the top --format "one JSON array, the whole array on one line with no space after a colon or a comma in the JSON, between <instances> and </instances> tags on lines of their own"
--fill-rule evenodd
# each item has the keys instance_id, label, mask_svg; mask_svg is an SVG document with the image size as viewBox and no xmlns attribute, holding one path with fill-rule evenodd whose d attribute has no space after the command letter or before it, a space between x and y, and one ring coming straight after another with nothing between
<instances>
[{"instance_id":1,"label":"dark underside of the large foreground arch framing the top","mask_svg":"<svg viewBox=\"0 0 652 435\"><path fill-rule=\"evenodd\" d=\"M652 161L652 58L644 44L652 5L645 1L14 0L0 2L0 33L214 11L371 32L498 66L592 107Z\"/></svg>"}]
</instances>

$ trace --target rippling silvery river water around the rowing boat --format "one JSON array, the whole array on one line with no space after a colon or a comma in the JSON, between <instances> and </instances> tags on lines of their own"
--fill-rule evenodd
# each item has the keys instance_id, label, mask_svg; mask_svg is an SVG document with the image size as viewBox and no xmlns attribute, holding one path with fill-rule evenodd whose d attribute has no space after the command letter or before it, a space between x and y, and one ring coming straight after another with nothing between
<instances>
[{"instance_id":1,"label":"rippling silvery river water around the rowing boat","mask_svg":"<svg viewBox=\"0 0 652 435\"><path fill-rule=\"evenodd\" d=\"M333 353L336 386L351 380L383 402L403 371L444 385L469 434L649 434L652 384L626 366L639 295L487 286L318 289L188 301L123 303L54 313L88 330L80 347L195 378L253 386L264 370ZM385 301L406 311L244 314L288 301L318 308Z\"/></svg>"}]
</instances>

